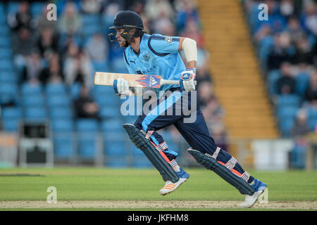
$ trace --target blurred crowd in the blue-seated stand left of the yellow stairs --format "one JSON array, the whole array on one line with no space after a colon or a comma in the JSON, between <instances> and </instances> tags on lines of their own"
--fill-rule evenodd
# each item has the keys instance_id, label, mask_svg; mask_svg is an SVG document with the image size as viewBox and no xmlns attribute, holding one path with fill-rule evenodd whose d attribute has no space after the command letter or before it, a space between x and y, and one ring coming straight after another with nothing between
<instances>
[{"instance_id":1,"label":"blurred crowd in the blue-seated stand left of the yellow stairs","mask_svg":"<svg viewBox=\"0 0 317 225\"><path fill-rule=\"evenodd\" d=\"M46 85L63 83L82 86L73 99L77 117L98 118L98 104L90 96L94 71L127 72L123 50L114 49L108 30L119 11L139 13L147 33L190 37L197 41L197 91L211 135L226 149L224 110L213 95L209 73L209 53L205 49L197 6L192 0L74 0L54 1L57 20L47 20L49 8L42 6L39 15L30 11L34 2L21 1L17 11L8 13L13 60L19 84ZM87 32L85 18L97 15L98 30ZM86 104L87 103L87 104ZM171 128L171 131L173 129ZM173 135L178 136L177 132Z\"/></svg>"}]
</instances>

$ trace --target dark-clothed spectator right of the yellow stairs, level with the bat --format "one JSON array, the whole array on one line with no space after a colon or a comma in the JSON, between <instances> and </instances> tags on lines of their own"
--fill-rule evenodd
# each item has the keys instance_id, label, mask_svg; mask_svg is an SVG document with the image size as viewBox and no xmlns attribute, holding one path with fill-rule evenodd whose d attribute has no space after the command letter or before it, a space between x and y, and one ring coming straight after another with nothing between
<instances>
[{"instance_id":1,"label":"dark-clothed spectator right of the yellow stairs, level with the bat","mask_svg":"<svg viewBox=\"0 0 317 225\"><path fill-rule=\"evenodd\" d=\"M292 73L290 63L282 63L280 67L281 77L276 82L278 94L294 94L296 91L296 81Z\"/></svg>"}]
</instances>

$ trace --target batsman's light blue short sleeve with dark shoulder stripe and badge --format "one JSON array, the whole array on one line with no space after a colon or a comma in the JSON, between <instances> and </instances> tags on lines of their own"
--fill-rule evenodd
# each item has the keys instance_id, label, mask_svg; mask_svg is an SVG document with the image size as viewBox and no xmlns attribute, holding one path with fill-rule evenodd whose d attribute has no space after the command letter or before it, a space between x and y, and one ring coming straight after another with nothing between
<instances>
[{"instance_id":1,"label":"batsman's light blue short sleeve with dark shoulder stripe and badge","mask_svg":"<svg viewBox=\"0 0 317 225\"><path fill-rule=\"evenodd\" d=\"M149 49L158 56L177 53L179 44L180 37L163 36L161 34L152 34L148 41Z\"/></svg>"}]
</instances>

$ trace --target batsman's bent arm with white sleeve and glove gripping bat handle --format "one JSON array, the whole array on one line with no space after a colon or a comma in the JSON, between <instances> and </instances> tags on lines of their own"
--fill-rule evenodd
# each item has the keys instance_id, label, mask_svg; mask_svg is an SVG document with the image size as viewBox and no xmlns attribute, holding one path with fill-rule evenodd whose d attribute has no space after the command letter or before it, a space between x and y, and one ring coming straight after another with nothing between
<instances>
[{"instance_id":1,"label":"batsman's bent arm with white sleeve and glove gripping bat handle","mask_svg":"<svg viewBox=\"0 0 317 225\"><path fill-rule=\"evenodd\" d=\"M178 51L184 51L186 59L186 71L183 71L180 76L180 86L185 91L194 91L197 65L197 44L193 39L188 37L180 37Z\"/></svg>"}]
</instances>

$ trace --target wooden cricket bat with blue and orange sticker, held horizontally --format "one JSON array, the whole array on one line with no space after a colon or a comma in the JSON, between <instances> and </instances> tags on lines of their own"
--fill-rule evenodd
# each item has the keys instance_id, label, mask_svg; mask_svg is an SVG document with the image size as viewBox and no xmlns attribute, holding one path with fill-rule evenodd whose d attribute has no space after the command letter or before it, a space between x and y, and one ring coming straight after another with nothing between
<instances>
[{"instance_id":1,"label":"wooden cricket bat with blue and orange sticker, held horizontally","mask_svg":"<svg viewBox=\"0 0 317 225\"><path fill-rule=\"evenodd\" d=\"M126 79L131 87L160 88L164 84L180 84L179 80L163 79L159 75L130 75L125 73L95 72L94 84L113 86L113 80Z\"/></svg>"}]
</instances>

